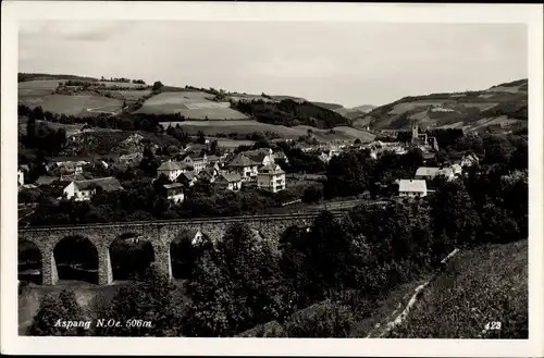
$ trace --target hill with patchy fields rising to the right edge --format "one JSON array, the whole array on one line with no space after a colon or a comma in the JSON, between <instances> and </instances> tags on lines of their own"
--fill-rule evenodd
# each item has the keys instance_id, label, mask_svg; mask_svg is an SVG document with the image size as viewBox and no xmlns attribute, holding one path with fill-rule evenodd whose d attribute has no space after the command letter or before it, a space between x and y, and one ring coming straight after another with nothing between
<instances>
[{"instance_id":1,"label":"hill with patchy fields rising to the right edge","mask_svg":"<svg viewBox=\"0 0 544 358\"><path fill-rule=\"evenodd\" d=\"M405 97L378 107L354 121L355 127L408 129L417 120L422 127L527 127L528 79L485 90Z\"/></svg>"}]
</instances>

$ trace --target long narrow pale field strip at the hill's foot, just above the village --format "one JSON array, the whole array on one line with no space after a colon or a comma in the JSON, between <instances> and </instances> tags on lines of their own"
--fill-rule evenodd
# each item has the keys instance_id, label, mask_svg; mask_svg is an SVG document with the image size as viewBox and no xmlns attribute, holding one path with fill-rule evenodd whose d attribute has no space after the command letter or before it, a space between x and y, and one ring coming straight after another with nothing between
<instances>
[{"instance_id":1,"label":"long narrow pale field strip at the hill's foot, just above the village","mask_svg":"<svg viewBox=\"0 0 544 358\"><path fill-rule=\"evenodd\" d=\"M238 134L252 134L254 132L275 132L282 138L297 139L300 136L307 135L308 129L313 132L316 138L320 140L355 140L359 138L361 141L371 141L374 135L350 128L335 127L334 134L329 134L327 129L319 129L306 125L297 125L287 127L283 125L274 125L261 123L257 121L185 121L185 122L162 122L161 125L166 128L169 125L175 126L180 124L188 134L196 135L198 131L202 131L207 136L214 136L218 133L228 134L236 132Z\"/></svg>"}]
</instances>

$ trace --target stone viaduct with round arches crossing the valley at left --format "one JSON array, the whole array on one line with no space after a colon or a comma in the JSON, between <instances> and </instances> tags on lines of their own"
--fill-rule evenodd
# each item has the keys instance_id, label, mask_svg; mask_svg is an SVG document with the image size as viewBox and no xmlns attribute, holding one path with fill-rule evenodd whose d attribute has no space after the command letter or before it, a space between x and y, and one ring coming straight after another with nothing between
<instances>
[{"instance_id":1,"label":"stone viaduct with round arches crossing the valley at left","mask_svg":"<svg viewBox=\"0 0 544 358\"><path fill-rule=\"evenodd\" d=\"M133 234L152 245L154 261L172 275L170 245L184 230L199 230L213 242L220 240L226 227L243 222L258 231L268 240L275 242L290 226L308 227L318 213L271 214L235 218L210 218L184 221L150 221L72 226L41 226L18 230L18 239L34 243L41 254L41 277L44 285L54 285L58 280L54 247L65 237L83 236L88 238L98 252L98 284L108 285L113 281L110 260L110 245L116 238Z\"/></svg>"}]
</instances>

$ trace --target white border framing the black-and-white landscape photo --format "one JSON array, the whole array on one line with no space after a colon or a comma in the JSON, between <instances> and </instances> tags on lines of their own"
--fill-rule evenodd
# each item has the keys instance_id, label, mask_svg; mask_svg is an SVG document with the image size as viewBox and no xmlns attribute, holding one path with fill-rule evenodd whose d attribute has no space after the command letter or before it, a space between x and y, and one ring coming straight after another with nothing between
<instances>
[{"instance_id":1,"label":"white border framing the black-and-white landscape photo","mask_svg":"<svg viewBox=\"0 0 544 358\"><path fill-rule=\"evenodd\" d=\"M543 356L543 14L527 4L2 2L1 351L3 354ZM16 69L22 20L350 21L528 24L530 340L39 338L17 336ZM478 74L475 74L478 75ZM13 173L13 174L12 174Z\"/></svg>"}]
</instances>

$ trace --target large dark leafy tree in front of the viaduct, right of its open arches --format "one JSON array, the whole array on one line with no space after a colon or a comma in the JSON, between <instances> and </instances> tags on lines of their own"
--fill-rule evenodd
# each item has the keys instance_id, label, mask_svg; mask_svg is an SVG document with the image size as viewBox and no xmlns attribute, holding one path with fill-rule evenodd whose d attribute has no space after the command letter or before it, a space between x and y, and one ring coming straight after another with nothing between
<instances>
[{"instance_id":1,"label":"large dark leafy tree in front of the viaduct, right of its open arches","mask_svg":"<svg viewBox=\"0 0 544 358\"><path fill-rule=\"evenodd\" d=\"M233 336L282 313L277 256L245 224L203 254L187 285L187 335Z\"/></svg>"}]
</instances>

